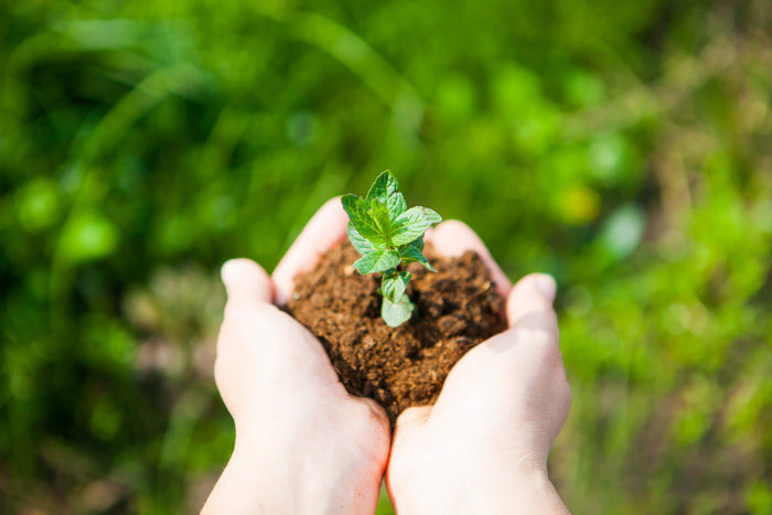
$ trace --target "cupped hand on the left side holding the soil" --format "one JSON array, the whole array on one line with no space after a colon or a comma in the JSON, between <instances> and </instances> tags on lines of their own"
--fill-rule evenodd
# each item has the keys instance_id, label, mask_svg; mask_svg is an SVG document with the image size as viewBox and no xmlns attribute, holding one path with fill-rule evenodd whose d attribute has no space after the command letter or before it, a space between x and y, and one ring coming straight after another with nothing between
<instances>
[{"instance_id":1,"label":"cupped hand on the left side holding the soil","mask_svg":"<svg viewBox=\"0 0 772 515\"><path fill-rule=\"evenodd\" d=\"M337 205L337 208L335 207ZM255 262L223 266L228 294L215 382L236 444L204 513L373 513L389 452L386 412L349 395L319 341L271 304L345 235L340 201L309 222L271 280Z\"/></svg>"}]
</instances>

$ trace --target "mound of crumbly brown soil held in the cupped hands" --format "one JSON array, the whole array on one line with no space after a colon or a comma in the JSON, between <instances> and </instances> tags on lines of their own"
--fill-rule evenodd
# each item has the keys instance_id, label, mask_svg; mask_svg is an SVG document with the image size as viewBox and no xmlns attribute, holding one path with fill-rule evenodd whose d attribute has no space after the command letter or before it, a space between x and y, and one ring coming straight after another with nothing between
<instances>
[{"instance_id":1,"label":"mound of crumbly brown soil held in the cupped hands","mask_svg":"<svg viewBox=\"0 0 772 515\"><path fill-rule=\"evenodd\" d=\"M504 300L473 251L458 258L423 253L437 269L408 266L418 314L398 328L380 319L380 275L360 275L358 253L344 242L294 281L287 305L324 345L345 388L375 399L394 426L411 406L431 405L451 367L470 348L505 329Z\"/></svg>"}]
</instances>

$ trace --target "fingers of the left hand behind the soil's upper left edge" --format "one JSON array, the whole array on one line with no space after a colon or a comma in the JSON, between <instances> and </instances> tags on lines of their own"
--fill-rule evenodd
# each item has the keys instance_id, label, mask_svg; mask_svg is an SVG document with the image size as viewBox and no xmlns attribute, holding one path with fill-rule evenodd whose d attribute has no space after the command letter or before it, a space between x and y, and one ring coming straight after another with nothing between
<instances>
[{"instance_id":1,"label":"fingers of the left hand behind the soil's upper left edge","mask_svg":"<svg viewBox=\"0 0 772 515\"><path fill-rule=\"evenodd\" d=\"M339 196L324 203L311 217L274 270L277 304L289 301L296 276L311 270L322 254L345 237L347 223L349 215Z\"/></svg>"}]
</instances>

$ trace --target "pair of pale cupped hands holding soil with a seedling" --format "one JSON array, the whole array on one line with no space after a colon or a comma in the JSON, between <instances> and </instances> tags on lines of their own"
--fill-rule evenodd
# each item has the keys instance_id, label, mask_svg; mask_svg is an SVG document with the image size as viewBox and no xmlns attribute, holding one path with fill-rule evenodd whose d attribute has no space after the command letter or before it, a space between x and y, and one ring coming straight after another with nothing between
<instances>
[{"instance_id":1,"label":"pair of pale cupped hands holding soil with a seedling","mask_svg":"<svg viewBox=\"0 0 772 515\"><path fill-rule=\"evenodd\" d=\"M383 408L350 395L319 341L276 307L345 237L346 222L340 200L329 201L272 278L247 259L223 267L215 380L236 444L203 512L374 513L386 474L400 514L567 513L547 476L571 400L555 281L536 273L513 288L464 224L428 232L440 254L480 254L507 299L510 329L463 356L435 406L403 412L392 439Z\"/></svg>"}]
</instances>

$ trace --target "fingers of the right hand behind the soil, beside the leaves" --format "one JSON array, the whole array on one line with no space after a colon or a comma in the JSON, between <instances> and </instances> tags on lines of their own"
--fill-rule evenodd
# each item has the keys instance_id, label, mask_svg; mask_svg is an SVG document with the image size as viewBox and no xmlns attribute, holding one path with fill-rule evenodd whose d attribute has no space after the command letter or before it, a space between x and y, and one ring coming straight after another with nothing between
<instances>
[{"instance_id":1,"label":"fingers of the right hand behind the soil, beside the leaves","mask_svg":"<svg viewBox=\"0 0 772 515\"><path fill-rule=\"evenodd\" d=\"M502 297L506 298L510 294L512 282L493 259L482 239L463 222L457 219L442 222L427 232L426 240L447 257L459 257L467 250L474 250L491 271L491 279Z\"/></svg>"}]
</instances>

